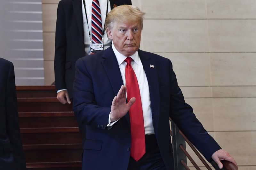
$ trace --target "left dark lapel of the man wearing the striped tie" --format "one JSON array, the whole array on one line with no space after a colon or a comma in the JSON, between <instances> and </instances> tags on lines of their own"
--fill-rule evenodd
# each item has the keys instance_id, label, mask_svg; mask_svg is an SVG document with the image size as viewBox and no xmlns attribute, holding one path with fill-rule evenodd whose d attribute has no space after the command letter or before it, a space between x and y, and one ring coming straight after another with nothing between
<instances>
[{"instance_id":1,"label":"left dark lapel of the man wearing the striped tie","mask_svg":"<svg viewBox=\"0 0 256 170\"><path fill-rule=\"evenodd\" d=\"M76 23L79 28L79 31L84 35L84 25L83 25L83 14L82 14L82 1L81 0L72 0L73 11L76 18Z\"/></svg>"}]
</instances>

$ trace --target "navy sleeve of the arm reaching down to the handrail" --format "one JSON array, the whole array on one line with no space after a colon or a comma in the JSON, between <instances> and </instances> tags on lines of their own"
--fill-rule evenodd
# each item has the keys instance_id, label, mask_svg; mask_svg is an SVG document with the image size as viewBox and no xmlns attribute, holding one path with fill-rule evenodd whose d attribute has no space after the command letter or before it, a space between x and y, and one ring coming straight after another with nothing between
<instances>
[{"instance_id":1,"label":"navy sleeve of the arm reaching down to the handrail","mask_svg":"<svg viewBox=\"0 0 256 170\"><path fill-rule=\"evenodd\" d=\"M178 86L176 75L172 70L170 61L171 76L171 100L170 117L180 130L188 137L190 142L204 155L210 162L212 154L221 149L219 144L207 133L201 122L198 121L193 109L189 106Z\"/></svg>"}]
</instances>

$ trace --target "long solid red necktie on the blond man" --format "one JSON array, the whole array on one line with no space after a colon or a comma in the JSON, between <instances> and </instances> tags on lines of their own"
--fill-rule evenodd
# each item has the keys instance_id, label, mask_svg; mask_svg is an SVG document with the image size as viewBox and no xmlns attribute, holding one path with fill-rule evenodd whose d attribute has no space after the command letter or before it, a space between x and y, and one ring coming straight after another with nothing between
<instances>
[{"instance_id":1,"label":"long solid red necktie on the blond man","mask_svg":"<svg viewBox=\"0 0 256 170\"><path fill-rule=\"evenodd\" d=\"M131 156L138 161L145 153L145 129L143 120L143 111L140 98L140 88L137 77L132 69L131 57L127 57L124 60L127 64L125 67L125 81L127 87L127 101L132 97L135 97L135 103L129 110L130 122L131 122Z\"/></svg>"}]
</instances>

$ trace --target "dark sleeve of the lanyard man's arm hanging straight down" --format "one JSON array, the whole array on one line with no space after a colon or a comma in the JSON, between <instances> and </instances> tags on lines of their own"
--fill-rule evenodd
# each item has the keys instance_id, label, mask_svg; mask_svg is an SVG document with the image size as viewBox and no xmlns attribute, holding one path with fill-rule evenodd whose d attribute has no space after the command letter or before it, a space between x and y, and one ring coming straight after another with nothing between
<instances>
[{"instance_id":1,"label":"dark sleeve of the lanyard man's arm hanging straight down","mask_svg":"<svg viewBox=\"0 0 256 170\"><path fill-rule=\"evenodd\" d=\"M65 11L62 1L57 8L57 21L55 33L55 55L54 55L54 75L56 91L67 89L65 82L65 64L66 64L66 21Z\"/></svg>"}]
</instances>

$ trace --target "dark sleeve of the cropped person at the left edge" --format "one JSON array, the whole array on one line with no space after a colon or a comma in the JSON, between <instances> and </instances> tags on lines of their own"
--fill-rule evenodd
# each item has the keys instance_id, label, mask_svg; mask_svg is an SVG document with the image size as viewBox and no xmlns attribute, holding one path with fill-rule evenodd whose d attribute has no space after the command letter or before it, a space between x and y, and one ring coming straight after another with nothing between
<instances>
[{"instance_id":1,"label":"dark sleeve of the cropped person at the left edge","mask_svg":"<svg viewBox=\"0 0 256 170\"><path fill-rule=\"evenodd\" d=\"M26 169L26 161L20 136L15 76L12 63L10 63L6 84L6 133L11 142L16 168L20 170Z\"/></svg>"}]
</instances>

